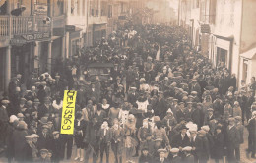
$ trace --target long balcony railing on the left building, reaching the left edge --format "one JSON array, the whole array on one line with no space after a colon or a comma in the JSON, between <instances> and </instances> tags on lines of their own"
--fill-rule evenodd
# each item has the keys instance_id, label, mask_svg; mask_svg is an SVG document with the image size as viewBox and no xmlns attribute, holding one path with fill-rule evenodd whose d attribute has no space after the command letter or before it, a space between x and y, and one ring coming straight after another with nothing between
<instances>
[{"instance_id":1,"label":"long balcony railing on the left building, reaching the left edge","mask_svg":"<svg viewBox=\"0 0 256 163\"><path fill-rule=\"evenodd\" d=\"M45 24L43 23L43 19L44 17L38 16L0 16L0 36L8 36L9 32L11 32L11 35L32 34L36 32L49 32L51 23Z\"/></svg>"}]
</instances>

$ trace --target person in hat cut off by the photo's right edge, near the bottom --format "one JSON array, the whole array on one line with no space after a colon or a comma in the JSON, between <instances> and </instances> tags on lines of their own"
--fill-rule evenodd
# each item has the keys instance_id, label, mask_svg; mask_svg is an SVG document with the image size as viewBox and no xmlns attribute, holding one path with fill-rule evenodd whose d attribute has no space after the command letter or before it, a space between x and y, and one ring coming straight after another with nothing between
<instances>
[{"instance_id":1,"label":"person in hat cut off by the photo's right edge, near the bottom","mask_svg":"<svg viewBox=\"0 0 256 163\"><path fill-rule=\"evenodd\" d=\"M246 126L249 136L248 136L248 155L251 154L251 158L255 158L256 152L256 111L252 112L252 117L248 121Z\"/></svg>"}]
</instances>

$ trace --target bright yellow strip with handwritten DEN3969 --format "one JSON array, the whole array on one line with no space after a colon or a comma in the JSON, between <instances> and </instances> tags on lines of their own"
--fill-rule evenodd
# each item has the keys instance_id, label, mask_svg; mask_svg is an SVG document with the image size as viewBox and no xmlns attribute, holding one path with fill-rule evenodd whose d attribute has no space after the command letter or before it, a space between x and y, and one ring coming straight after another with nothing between
<instances>
[{"instance_id":1,"label":"bright yellow strip with handwritten DEN3969","mask_svg":"<svg viewBox=\"0 0 256 163\"><path fill-rule=\"evenodd\" d=\"M61 134L73 135L77 91L65 90L63 97Z\"/></svg>"}]
</instances>

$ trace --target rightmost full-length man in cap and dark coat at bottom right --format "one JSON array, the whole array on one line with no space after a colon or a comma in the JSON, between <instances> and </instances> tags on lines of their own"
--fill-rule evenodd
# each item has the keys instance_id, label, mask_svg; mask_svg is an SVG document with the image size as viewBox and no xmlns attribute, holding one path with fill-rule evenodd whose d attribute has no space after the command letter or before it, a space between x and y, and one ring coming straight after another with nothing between
<instances>
[{"instance_id":1,"label":"rightmost full-length man in cap and dark coat at bottom right","mask_svg":"<svg viewBox=\"0 0 256 163\"><path fill-rule=\"evenodd\" d=\"M226 149L227 149L227 160L229 162L237 161L235 158L235 148L237 148L240 144L240 134L235 127L235 119L229 118L228 119L229 125L226 129Z\"/></svg>"}]
</instances>

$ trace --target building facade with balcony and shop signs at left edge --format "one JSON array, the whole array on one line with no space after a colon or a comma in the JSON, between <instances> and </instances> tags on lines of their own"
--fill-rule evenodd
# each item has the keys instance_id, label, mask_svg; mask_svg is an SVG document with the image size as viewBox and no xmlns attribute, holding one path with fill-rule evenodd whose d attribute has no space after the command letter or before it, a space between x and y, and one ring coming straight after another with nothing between
<instances>
[{"instance_id":1,"label":"building facade with balcony and shop signs at left edge","mask_svg":"<svg viewBox=\"0 0 256 163\"><path fill-rule=\"evenodd\" d=\"M7 90L11 77L17 74L22 74L22 81L26 82L32 72L55 69L52 61L64 51L52 48L53 44L62 43L53 29L55 21L65 20L63 5L64 1L57 0L1 1L0 91Z\"/></svg>"}]
</instances>

